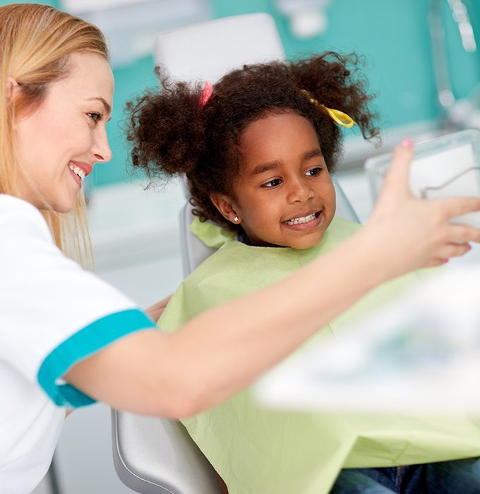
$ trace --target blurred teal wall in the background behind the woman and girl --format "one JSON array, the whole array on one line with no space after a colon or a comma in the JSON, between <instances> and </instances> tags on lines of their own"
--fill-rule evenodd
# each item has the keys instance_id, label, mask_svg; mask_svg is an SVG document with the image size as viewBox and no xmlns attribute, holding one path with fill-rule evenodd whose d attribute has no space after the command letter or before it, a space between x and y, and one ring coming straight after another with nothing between
<instances>
[{"instance_id":1,"label":"blurred teal wall in the background behind the woman and girl","mask_svg":"<svg viewBox=\"0 0 480 494\"><path fill-rule=\"evenodd\" d=\"M0 4L6 3L0 1ZM59 1L42 3L56 5ZM480 2L464 0L464 3L479 43L476 54L464 52L447 0L443 0L448 62L457 97L469 95L480 81ZM275 13L275 0L212 0L212 11L215 18L241 13L272 13L289 57L328 49L364 55L364 72L371 90L378 93L376 107L380 113L380 126L388 128L438 118L428 4L429 0L331 0L327 9L328 29L310 40L297 40L291 35L287 20ZM96 167L92 179L97 186L131 180L126 171L128 146L124 138L124 106L133 95L156 86L150 56L116 68L114 76L114 114L108 124L114 158L109 164Z\"/></svg>"}]
</instances>

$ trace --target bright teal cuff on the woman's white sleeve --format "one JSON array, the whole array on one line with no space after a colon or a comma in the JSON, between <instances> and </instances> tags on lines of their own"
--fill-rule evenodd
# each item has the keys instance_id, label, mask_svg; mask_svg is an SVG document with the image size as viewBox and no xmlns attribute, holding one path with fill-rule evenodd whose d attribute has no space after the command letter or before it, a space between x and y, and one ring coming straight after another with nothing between
<instances>
[{"instance_id":1,"label":"bright teal cuff on the woman's white sleeve","mask_svg":"<svg viewBox=\"0 0 480 494\"><path fill-rule=\"evenodd\" d=\"M38 370L38 382L58 406L76 408L95 403L95 399L76 387L59 385L56 381L74 364L107 347L116 339L134 331L155 328L155 323L138 309L106 315L59 344L42 362Z\"/></svg>"}]
</instances>

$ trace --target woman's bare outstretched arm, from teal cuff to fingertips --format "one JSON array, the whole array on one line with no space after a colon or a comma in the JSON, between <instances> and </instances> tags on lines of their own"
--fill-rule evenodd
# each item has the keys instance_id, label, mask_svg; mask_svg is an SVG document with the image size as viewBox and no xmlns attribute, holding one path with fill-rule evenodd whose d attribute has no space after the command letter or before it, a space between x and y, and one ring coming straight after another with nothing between
<instances>
[{"instance_id":1,"label":"woman's bare outstretched arm, from teal cuff to fingertips","mask_svg":"<svg viewBox=\"0 0 480 494\"><path fill-rule=\"evenodd\" d=\"M66 380L119 409L181 418L222 402L381 282L462 255L480 230L450 224L480 198L420 200L410 141L394 152L371 219L341 246L272 286L166 335L145 330L78 363Z\"/></svg>"}]
</instances>

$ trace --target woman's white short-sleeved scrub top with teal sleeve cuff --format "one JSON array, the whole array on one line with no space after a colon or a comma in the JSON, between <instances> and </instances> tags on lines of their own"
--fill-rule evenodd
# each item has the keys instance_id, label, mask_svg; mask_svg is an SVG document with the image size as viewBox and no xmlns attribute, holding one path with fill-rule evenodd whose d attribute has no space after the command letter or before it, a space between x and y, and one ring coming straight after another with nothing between
<instances>
[{"instance_id":1,"label":"woman's white short-sleeved scrub top with teal sleeve cuff","mask_svg":"<svg viewBox=\"0 0 480 494\"><path fill-rule=\"evenodd\" d=\"M46 474L64 407L94 402L61 377L129 333L155 327L135 303L57 248L40 212L0 194L0 492Z\"/></svg>"}]
</instances>

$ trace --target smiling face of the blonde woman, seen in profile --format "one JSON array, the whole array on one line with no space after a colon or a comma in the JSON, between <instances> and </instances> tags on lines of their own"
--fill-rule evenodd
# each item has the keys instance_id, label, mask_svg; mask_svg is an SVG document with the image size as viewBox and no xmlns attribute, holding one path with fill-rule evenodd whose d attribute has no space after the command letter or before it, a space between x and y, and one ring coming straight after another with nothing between
<instances>
[{"instance_id":1,"label":"smiling face of the blonde woman, seen in profile","mask_svg":"<svg viewBox=\"0 0 480 494\"><path fill-rule=\"evenodd\" d=\"M13 131L20 166L29 179L21 196L57 212L76 203L82 181L97 162L112 157L105 124L112 109L114 79L102 56L73 54L68 76L49 85L33 112L19 116ZM13 97L21 88L13 88Z\"/></svg>"}]
</instances>

